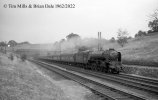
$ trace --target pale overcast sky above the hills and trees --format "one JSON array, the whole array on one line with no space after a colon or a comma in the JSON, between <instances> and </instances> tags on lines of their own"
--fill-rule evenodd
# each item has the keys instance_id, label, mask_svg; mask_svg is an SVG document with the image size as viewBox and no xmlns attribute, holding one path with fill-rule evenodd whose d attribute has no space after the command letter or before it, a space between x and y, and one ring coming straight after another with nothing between
<instances>
[{"instance_id":1,"label":"pale overcast sky above the hills and trees","mask_svg":"<svg viewBox=\"0 0 158 100\"><path fill-rule=\"evenodd\" d=\"M73 4L75 8L18 8L19 4ZM98 32L110 39L117 37L120 28L134 36L149 29L155 9L158 0L0 0L0 41L53 43L70 33L97 38Z\"/></svg>"}]
</instances>

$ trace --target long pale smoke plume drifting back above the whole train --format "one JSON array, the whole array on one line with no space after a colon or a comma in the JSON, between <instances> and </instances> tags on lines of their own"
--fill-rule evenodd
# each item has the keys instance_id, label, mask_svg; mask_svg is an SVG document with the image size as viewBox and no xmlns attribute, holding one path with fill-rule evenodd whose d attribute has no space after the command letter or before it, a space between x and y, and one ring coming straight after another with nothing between
<instances>
[{"instance_id":1,"label":"long pale smoke plume drifting back above the whole train","mask_svg":"<svg viewBox=\"0 0 158 100\"><path fill-rule=\"evenodd\" d=\"M117 48L117 43L111 43L109 40L102 38L100 40L101 47L103 50L109 48ZM98 39L97 38L71 38L61 39L55 43L49 44L26 44L23 46L17 46L17 49L24 49L24 51L30 51L38 53L39 55L59 55L59 54L72 54L77 53L79 50L98 50Z\"/></svg>"}]
</instances>

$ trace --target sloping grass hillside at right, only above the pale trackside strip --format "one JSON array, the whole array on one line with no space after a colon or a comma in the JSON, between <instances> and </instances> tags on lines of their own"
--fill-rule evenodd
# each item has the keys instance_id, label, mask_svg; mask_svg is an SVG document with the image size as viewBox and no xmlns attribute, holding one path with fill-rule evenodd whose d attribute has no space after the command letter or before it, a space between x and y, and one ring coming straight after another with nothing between
<instances>
[{"instance_id":1,"label":"sloping grass hillside at right, only above the pale trackside strip","mask_svg":"<svg viewBox=\"0 0 158 100\"><path fill-rule=\"evenodd\" d=\"M158 35L132 39L118 50L124 64L158 67Z\"/></svg>"}]
</instances>

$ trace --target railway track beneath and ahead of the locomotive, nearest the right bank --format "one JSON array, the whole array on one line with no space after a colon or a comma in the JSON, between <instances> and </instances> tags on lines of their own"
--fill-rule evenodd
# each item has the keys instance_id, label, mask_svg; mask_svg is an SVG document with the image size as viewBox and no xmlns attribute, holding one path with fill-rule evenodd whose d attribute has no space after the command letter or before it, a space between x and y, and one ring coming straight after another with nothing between
<instances>
[{"instance_id":1,"label":"railway track beneath and ahead of the locomotive, nearest the right bank","mask_svg":"<svg viewBox=\"0 0 158 100\"><path fill-rule=\"evenodd\" d=\"M114 81L126 86L131 86L133 88L139 88L141 90L149 91L150 93L158 94L158 80L153 80L149 78L143 77L136 77L127 74L119 74L119 75L111 75L105 73L98 73L94 71L85 71L85 70L78 70L78 68L68 66L69 70L79 71L84 74L90 74L102 79L106 79L109 81ZM126 82L124 82L126 81Z\"/></svg>"}]
</instances>

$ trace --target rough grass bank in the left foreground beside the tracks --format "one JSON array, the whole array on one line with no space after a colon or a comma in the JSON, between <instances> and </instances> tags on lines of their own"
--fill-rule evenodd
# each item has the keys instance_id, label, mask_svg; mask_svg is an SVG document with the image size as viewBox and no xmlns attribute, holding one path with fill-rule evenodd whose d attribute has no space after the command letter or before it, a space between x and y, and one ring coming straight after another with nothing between
<instances>
[{"instance_id":1,"label":"rough grass bank in the left foreground beside the tracks","mask_svg":"<svg viewBox=\"0 0 158 100\"><path fill-rule=\"evenodd\" d=\"M0 100L69 100L27 62L0 54Z\"/></svg>"}]
</instances>

